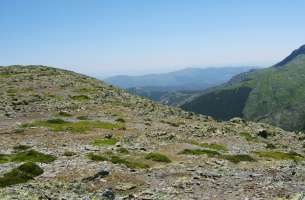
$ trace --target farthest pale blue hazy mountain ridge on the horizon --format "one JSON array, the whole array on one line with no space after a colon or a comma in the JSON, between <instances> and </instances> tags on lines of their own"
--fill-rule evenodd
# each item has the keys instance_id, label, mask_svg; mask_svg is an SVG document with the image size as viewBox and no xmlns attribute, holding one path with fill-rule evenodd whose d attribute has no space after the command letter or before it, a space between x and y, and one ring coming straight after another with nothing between
<instances>
[{"instance_id":1,"label":"farthest pale blue hazy mountain ridge on the horizon","mask_svg":"<svg viewBox=\"0 0 305 200\"><path fill-rule=\"evenodd\" d=\"M186 68L163 74L114 76L106 83L121 88L159 87L163 90L202 90L228 81L232 76L253 67Z\"/></svg>"}]
</instances>

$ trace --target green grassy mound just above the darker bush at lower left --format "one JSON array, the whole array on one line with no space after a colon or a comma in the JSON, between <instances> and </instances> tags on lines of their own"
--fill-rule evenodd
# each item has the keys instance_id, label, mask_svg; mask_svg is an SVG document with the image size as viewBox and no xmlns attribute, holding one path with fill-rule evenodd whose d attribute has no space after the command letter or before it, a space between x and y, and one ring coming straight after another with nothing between
<instances>
[{"instance_id":1,"label":"green grassy mound just above the darker bush at lower left","mask_svg":"<svg viewBox=\"0 0 305 200\"><path fill-rule=\"evenodd\" d=\"M43 154L35 150L18 152L11 156L12 162L40 162L50 163L56 160L55 156Z\"/></svg>"}]
</instances>

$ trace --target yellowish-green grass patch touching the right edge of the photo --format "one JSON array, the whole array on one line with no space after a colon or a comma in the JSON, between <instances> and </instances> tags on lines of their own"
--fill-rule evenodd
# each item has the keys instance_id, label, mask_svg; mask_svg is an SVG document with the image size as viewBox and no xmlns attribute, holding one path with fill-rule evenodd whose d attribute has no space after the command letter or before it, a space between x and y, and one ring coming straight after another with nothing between
<instances>
[{"instance_id":1,"label":"yellowish-green grass patch touching the right edge of the photo","mask_svg":"<svg viewBox=\"0 0 305 200\"><path fill-rule=\"evenodd\" d=\"M256 151L254 152L259 157L272 158L275 160L304 160L304 156L296 152L280 152L280 151Z\"/></svg>"}]
</instances>

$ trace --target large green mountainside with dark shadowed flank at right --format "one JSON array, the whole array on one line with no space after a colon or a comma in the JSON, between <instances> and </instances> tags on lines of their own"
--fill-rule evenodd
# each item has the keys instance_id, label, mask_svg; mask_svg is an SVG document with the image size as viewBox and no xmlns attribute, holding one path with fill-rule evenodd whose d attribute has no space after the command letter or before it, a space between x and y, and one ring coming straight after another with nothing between
<instances>
[{"instance_id":1,"label":"large green mountainside with dark shadowed flank at right","mask_svg":"<svg viewBox=\"0 0 305 200\"><path fill-rule=\"evenodd\" d=\"M305 130L305 45L278 64L241 73L182 108L227 120L243 117Z\"/></svg>"}]
</instances>

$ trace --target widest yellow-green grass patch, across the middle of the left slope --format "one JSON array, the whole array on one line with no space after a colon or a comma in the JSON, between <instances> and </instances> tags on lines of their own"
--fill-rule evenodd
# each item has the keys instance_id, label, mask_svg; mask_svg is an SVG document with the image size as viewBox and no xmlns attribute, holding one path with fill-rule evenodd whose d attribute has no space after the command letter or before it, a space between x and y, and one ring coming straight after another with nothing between
<instances>
[{"instance_id":1,"label":"widest yellow-green grass patch, across the middle of the left slope","mask_svg":"<svg viewBox=\"0 0 305 200\"><path fill-rule=\"evenodd\" d=\"M72 133L85 133L87 131L91 131L95 128L100 129L115 129L124 127L122 124L112 124L109 122L101 122L101 121L90 121L83 120L77 122L68 122L62 119L50 119L46 121L37 121L32 124L23 124L23 128L41 126L49 128L51 131L60 132L72 132Z\"/></svg>"}]
</instances>

